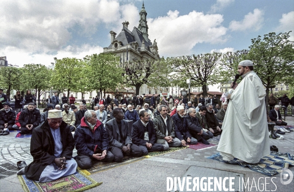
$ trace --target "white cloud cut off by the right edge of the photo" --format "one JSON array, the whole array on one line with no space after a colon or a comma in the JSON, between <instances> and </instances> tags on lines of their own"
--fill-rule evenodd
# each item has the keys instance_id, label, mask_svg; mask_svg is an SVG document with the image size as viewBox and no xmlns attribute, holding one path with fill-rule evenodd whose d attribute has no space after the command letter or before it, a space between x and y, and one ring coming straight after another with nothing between
<instances>
[{"instance_id":1,"label":"white cloud cut off by the right edge of the photo","mask_svg":"<svg viewBox=\"0 0 294 192\"><path fill-rule=\"evenodd\" d=\"M290 41L294 41L294 11L291 11L289 13L283 14L282 18L279 20L279 26L277 27L277 30L281 32L289 32L290 33Z\"/></svg>"}]
</instances>

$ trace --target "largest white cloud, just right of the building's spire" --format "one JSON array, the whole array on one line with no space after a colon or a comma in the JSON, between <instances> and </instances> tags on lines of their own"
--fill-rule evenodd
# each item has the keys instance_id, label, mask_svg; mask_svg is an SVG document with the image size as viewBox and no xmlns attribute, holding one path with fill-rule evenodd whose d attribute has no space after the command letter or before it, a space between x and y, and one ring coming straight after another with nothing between
<instances>
[{"instance_id":1,"label":"largest white cloud, just right of the building's spire","mask_svg":"<svg viewBox=\"0 0 294 192\"><path fill-rule=\"evenodd\" d=\"M179 12L169 11L167 16L147 19L149 39L156 42L160 55L175 56L191 54L198 43L222 43L226 39L227 28L220 14L204 14L192 11L179 16Z\"/></svg>"}]
</instances>

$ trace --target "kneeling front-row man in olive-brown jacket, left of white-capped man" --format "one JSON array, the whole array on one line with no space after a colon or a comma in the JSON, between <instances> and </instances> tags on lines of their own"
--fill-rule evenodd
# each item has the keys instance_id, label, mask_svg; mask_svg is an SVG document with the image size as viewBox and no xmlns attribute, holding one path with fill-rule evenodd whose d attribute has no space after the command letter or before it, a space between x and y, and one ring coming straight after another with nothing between
<instances>
[{"instance_id":1,"label":"kneeling front-row man in olive-brown jacket, left of white-capped man","mask_svg":"<svg viewBox=\"0 0 294 192\"><path fill-rule=\"evenodd\" d=\"M181 146L181 141L175 137L174 122L168 116L168 106L160 105L158 107L160 115L153 120L154 129L156 130L156 143L163 145L163 150L169 150L170 147Z\"/></svg>"}]
</instances>

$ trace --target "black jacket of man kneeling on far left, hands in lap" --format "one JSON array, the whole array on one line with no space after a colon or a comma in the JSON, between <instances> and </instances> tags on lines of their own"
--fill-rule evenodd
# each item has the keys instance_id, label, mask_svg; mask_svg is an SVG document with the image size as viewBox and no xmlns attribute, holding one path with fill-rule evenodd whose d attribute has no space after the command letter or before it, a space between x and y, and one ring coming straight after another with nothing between
<instances>
[{"instance_id":1,"label":"black jacket of man kneeling on far left, hands in lap","mask_svg":"<svg viewBox=\"0 0 294 192\"><path fill-rule=\"evenodd\" d=\"M39 126L41 122L40 111L34 109L32 112L30 112L28 109L25 109L21 112L19 122L22 125L22 127L25 127L28 124L32 124L34 127Z\"/></svg>"}]
</instances>

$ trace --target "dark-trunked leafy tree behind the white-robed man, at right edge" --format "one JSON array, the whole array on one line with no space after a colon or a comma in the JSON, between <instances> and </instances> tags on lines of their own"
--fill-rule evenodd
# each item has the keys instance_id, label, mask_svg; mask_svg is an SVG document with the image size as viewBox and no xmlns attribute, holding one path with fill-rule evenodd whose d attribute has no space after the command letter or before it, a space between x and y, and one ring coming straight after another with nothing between
<instances>
[{"instance_id":1,"label":"dark-trunked leafy tree behind the white-robed man, at right edge","mask_svg":"<svg viewBox=\"0 0 294 192\"><path fill-rule=\"evenodd\" d=\"M293 79L294 72L294 42L289 40L289 32L269 33L251 39L252 45L247 55L254 65L254 71L266 87L266 106L270 87Z\"/></svg>"}]
</instances>

